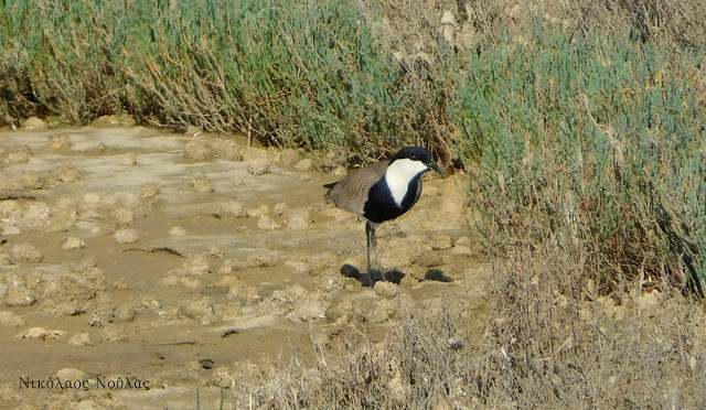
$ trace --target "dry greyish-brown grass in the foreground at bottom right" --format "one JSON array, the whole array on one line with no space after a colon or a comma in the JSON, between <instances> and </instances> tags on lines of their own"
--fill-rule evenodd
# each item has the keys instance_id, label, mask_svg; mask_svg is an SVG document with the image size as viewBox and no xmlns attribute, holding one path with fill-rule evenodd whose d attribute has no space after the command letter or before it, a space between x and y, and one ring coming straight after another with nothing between
<instances>
[{"instance_id":1,"label":"dry greyish-brown grass in the foreground at bottom right","mask_svg":"<svg viewBox=\"0 0 706 410\"><path fill-rule=\"evenodd\" d=\"M659 290L599 298L582 261L558 252L517 255L492 269L486 320L473 317L463 301L442 301L419 309L382 344L351 332L356 342L344 354L319 346L313 366L298 357L270 370L238 366L233 404L697 409L706 402L703 306Z\"/></svg>"}]
</instances>

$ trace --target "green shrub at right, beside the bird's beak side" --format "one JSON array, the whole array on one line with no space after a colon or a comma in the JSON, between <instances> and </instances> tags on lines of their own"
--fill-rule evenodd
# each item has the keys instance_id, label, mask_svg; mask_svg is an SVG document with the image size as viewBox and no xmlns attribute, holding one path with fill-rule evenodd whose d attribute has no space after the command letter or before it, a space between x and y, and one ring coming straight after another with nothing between
<instances>
[{"instance_id":1,"label":"green shrub at right, beside the bird's beak side","mask_svg":"<svg viewBox=\"0 0 706 410\"><path fill-rule=\"evenodd\" d=\"M703 54L634 45L537 31L466 53L450 120L491 242L580 252L605 290L667 279L703 294Z\"/></svg>"}]
</instances>

